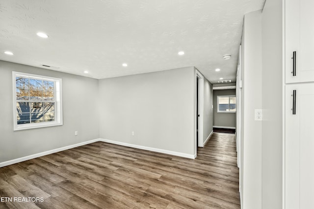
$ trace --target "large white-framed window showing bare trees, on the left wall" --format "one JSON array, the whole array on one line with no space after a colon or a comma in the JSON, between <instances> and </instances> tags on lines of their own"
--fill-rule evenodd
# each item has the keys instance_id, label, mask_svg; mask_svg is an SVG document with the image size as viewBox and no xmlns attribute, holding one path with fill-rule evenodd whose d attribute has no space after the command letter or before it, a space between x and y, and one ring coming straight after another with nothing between
<instances>
[{"instance_id":1,"label":"large white-framed window showing bare trees, on the left wall","mask_svg":"<svg viewBox=\"0 0 314 209\"><path fill-rule=\"evenodd\" d=\"M62 125L62 79L12 72L14 131Z\"/></svg>"}]
</instances>

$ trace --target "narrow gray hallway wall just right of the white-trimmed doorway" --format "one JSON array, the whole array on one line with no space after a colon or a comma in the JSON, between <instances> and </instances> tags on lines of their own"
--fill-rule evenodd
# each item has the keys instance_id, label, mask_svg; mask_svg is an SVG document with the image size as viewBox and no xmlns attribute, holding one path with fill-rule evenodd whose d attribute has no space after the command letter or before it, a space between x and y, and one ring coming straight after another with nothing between
<instances>
[{"instance_id":1,"label":"narrow gray hallway wall just right of the white-trimmed doorway","mask_svg":"<svg viewBox=\"0 0 314 209\"><path fill-rule=\"evenodd\" d=\"M204 142L212 131L213 126L213 103L212 84L204 78Z\"/></svg>"}]
</instances>

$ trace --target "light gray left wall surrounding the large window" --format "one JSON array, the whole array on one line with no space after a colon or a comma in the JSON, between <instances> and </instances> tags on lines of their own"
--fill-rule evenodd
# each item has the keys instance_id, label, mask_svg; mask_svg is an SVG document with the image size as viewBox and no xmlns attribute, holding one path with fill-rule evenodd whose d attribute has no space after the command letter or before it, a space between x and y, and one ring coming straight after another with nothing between
<instances>
[{"instance_id":1,"label":"light gray left wall surrounding the large window","mask_svg":"<svg viewBox=\"0 0 314 209\"><path fill-rule=\"evenodd\" d=\"M62 78L63 126L13 131L12 71ZM4 61L0 72L0 162L99 138L97 79Z\"/></svg>"}]
</instances>

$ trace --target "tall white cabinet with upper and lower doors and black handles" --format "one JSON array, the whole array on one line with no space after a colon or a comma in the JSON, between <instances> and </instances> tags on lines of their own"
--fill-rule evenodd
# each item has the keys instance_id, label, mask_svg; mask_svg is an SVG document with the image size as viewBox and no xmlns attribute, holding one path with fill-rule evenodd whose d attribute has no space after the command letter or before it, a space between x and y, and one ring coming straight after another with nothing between
<instances>
[{"instance_id":1,"label":"tall white cabinet with upper and lower doors and black handles","mask_svg":"<svg viewBox=\"0 0 314 209\"><path fill-rule=\"evenodd\" d=\"M314 0L285 0L286 209L314 209L313 11Z\"/></svg>"}]
</instances>

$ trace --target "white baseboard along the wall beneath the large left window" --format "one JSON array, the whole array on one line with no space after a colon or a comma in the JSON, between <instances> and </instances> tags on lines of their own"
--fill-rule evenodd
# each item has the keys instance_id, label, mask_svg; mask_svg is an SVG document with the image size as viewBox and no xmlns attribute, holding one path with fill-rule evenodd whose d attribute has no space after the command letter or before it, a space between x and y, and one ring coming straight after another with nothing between
<instances>
[{"instance_id":1,"label":"white baseboard along the wall beneath the large left window","mask_svg":"<svg viewBox=\"0 0 314 209\"><path fill-rule=\"evenodd\" d=\"M83 146L83 145L94 143L94 142L97 142L97 141L100 141L100 139L93 139L93 140L90 140L90 141L84 141L84 142L81 142L81 143L78 143L78 144L73 144L73 145L69 145L69 146L65 146L65 147L60 147L60 148L57 148L57 149L54 149L54 150L49 150L49 151L45 151L45 152L42 152L42 153L33 154L33 155L30 155L30 156L26 156L26 157L20 157L20 158L8 160L8 161L0 162L0 167L4 167L4 166L7 166L7 165L12 165L14 163L22 162L22 161L33 159L33 158L36 158L36 157L42 157L42 156L50 155L52 153L57 153L57 152L61 152L61 151L64 151L64 150L69 150L69 149L72 149L72 148L75 148L75 147Z\"/></svg>"}]
</instances>

